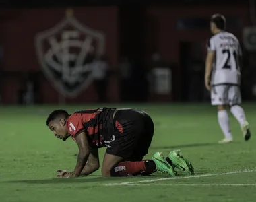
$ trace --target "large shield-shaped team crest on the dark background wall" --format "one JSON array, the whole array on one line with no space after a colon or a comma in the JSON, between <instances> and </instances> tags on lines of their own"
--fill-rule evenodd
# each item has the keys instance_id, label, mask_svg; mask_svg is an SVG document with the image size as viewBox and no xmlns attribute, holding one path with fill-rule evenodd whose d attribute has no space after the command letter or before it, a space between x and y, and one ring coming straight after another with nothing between
<instances>
[{"instance_id":1,"label":"large shield-shaped team crest on the dark background wall","mask_svg":"<svg viewBox=\"0 0 256 202\"><path fill-rule=\"evenodd\" d=\"M68 10L53 28L36 35L36 53L46 77L64 96L75 97L93 81L92 56L104 53L105 37Z\"/></svg>"}]
</instances>

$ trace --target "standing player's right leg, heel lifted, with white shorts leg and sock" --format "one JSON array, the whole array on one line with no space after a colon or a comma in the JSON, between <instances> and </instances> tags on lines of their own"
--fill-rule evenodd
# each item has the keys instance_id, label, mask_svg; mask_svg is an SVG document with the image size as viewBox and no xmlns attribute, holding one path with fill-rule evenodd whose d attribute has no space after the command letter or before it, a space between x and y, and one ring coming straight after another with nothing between
<instances>
[{"instance_id":1,"label":"standing player's right leg, heel lifted, with white shorts leg and sock","mask_svg":"<svg viewBox=\"0 0 256 202\"><path fill-rule=\"evenodd\" d=\"M228 97L230 100L230 112L234 115L238 123L241 125L241 131L245 137L245 141L251 137L251 131L249 123L247 122L245 111L240 106L241 104L241 92L238 86L230 86Z\"/></svg>"}]
</instances>

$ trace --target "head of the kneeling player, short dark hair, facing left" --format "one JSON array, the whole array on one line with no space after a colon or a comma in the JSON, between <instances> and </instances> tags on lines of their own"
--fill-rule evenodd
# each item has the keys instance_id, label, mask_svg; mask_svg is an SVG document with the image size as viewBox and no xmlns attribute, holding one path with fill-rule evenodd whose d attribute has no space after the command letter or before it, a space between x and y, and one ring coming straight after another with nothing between
<instances>
[{"instance_id":1,"label":"head of the kneeling player, short dark hair, facing left","mask_svg":"<svg viewBox=\"0 0 256 202\"><path fill-rule=\"evenodd\" d=\"M53 131L55 137L65 141L69 137L66 130L66 123L69 114L65 110L54 110L49 114L46 125Z\"/></svg>"}]
</instances>

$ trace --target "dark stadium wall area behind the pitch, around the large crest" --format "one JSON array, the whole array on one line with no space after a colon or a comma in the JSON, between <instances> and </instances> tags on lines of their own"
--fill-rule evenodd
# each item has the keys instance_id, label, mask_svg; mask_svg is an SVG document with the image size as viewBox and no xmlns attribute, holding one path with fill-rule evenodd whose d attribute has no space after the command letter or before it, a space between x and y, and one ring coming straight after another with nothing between
<instances>
[{"instance_id":1,"label":"dark stadium wall area behind the pitch, around the large crest","mask_svg":"<svg viewBox=\"0 0 256 202\"><path fill-rule=\"evenodd\" d=\"M209 102L205 91L204 62L210 38L209 19L214 13L226 16L228 31L243 48L241 91L243 100L255 100L255 51L244 46L243 29L253 26L255 7L249 1L6 1L0 2L1 102L19 104L22 82L36 80L36 103L98 102L91 85L76 98L63 98L42 73L36 58L34 36L65 18L65 10L86 26L106 35L106 57L113 72L108 77L106 102ZM153 53L172 71L170 94L150 91L148 73ZM121 98L117 73L121 57L133 67L129 98ZM90 96L88 96L90 95Z\"/></svg>"}]
</instances>

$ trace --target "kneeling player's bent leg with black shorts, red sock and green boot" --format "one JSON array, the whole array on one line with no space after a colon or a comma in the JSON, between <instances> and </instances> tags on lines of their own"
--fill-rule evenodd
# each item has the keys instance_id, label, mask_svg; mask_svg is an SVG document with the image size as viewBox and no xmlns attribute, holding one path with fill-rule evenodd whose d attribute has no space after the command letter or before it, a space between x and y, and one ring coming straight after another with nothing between
<instances>
[{"instance_id":1,"label":"kneeling player's bent leg with black shorts, red sock and green boot","mask_svg":"<svg viewBox=\"0 0 256 202\"><path fill-rule=\"evenodd\" d=\"M115 141L110 141L106 149L102 164L103 176L151 174L155 170L164 171L164 168L168 172L170 165L164 157L162 162L161 159L142 160L148 153L154 133L154 124L150 121L146 121L143 112L136 110L120 110L115 114Z\"/></svg>"}]
</instances>

